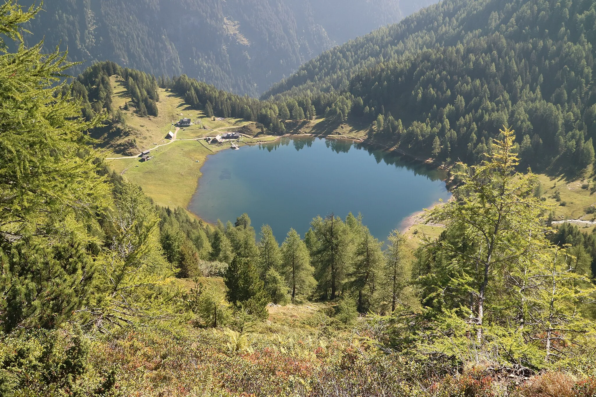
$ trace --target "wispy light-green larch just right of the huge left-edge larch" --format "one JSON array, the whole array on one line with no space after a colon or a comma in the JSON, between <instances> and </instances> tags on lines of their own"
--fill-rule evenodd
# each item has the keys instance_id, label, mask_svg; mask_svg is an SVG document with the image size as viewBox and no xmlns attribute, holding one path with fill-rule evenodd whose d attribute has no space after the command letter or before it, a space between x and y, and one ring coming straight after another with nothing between
<instances>
[{"instance_id":1,"label":"wispy light-green larch just right of the huge left-edge larch","mask_svg":"<svg viewBox=\"0 0 596 397\"><path fill-rule=\"evenodd\" d=\"M103 220L107 249L96 262L94 293L77 311L83 327L100 332L171 314L164 302L174 268L162 256L157 211L141 187L125 181L119 190Z\"/></svg>"}]
</instances>

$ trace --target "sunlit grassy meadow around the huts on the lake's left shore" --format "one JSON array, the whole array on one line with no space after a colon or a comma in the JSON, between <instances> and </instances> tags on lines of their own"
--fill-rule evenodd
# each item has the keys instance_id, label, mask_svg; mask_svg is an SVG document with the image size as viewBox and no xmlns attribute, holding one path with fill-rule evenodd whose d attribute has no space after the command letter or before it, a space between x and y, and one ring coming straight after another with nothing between
<instances>
[{"instance_id":1,"label":"sunlit grassy meadow around the huts on the lake's left shore","mask_svg":"<svg viewBox=\"0 0 596 397\"><path fill-rule=\"evenodd\" d=\"M125 103L131 101L124 82L117 79L116 76L111 77L111 82L114 90L114 107L123 111L126 126L132 129L139 151L170 142L164 137L167 132L175 131L175 127L172 126L173 121L178 121L180 118L193 120L193 126L178 131L174 142L151 150L151 155L154 157L150 161L140 162L136 157L106 160L110 170L122 174L129 181L141 186L144 192L158 205L186 208L197 189L198 179L201 176L200 168L207 155L230 147L229 143L209 145L199 138L234 131L238 127L243 127L242 133L249 136L257 135L260 132L256 129L255 123L250 121L238 118L212 120L203 111L191 110L185 105L184 99L179 98L178 95L161 88L159 89L160 101L157 102L159 116L139 117L133 107L129 111L123 110ZM201 126L204 126L205 129ZM117 137L111 140L108 148L126 139L131 139L131 137ZM242 145L274 139L277 137L260 135L250 138L245 136L239 143ZM105 155L108 158L123 157L122 154L114 154L109 149Z\"/></svg>"}]
</instances>

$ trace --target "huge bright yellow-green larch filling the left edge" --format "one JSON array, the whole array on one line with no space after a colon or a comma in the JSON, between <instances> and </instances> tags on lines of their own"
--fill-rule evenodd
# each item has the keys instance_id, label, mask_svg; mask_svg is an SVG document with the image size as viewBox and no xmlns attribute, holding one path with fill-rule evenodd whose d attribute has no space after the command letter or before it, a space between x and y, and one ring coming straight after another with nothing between
<instances>
[{"instance_id":1,"label":"huge bright yellow-green larch filling the left edge","mask_svg":"<svg viewBox=\"0 0 596 397\"><path fill-rule=\"evenodd\" d=\"M39 8L0 5L0 329L54 328L85 304L109 205L80 99L61 83L66 53L23 45ZM15 40L17 52L5 40Z\"/></svg>"}]
</instances>

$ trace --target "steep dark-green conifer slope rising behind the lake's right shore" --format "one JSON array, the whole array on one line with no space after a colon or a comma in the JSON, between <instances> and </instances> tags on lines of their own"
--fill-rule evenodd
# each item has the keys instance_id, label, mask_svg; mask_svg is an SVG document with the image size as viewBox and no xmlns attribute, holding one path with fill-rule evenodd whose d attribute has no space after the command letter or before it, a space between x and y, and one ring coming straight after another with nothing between
<instances>
[{"instance_id":1,"label":"steep dark-green conifer slope rising behind the lake's right shore","mask_svg":"<svg viewBox=\"0 0 596 397\"><path fill-rule=\"evenodd\" d=\"M576 173L594 161L596 5L448 0L325 52L263 97L371 123L371 139L473 163L499 126L522 165Z\"/></svg>"}]
</instances>

